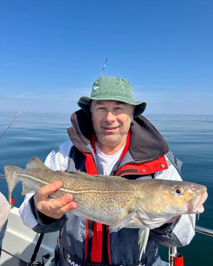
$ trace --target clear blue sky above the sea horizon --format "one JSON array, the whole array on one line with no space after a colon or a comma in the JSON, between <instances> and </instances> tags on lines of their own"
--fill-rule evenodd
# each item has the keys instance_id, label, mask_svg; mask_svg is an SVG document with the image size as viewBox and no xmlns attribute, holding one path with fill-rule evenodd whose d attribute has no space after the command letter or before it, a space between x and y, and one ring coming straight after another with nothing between
<instances>
[{"instance_id":1,"label":"clear blue sky above the sea horizon","mask_svg":"<svg viewBox=\"0 0 213 266\"><path fill-rule=\"evenodd\" d=\"M0 111L70 113L100 76L146 114L213 114L213 1L1 1Z\"/></svg>"}]
</instances>

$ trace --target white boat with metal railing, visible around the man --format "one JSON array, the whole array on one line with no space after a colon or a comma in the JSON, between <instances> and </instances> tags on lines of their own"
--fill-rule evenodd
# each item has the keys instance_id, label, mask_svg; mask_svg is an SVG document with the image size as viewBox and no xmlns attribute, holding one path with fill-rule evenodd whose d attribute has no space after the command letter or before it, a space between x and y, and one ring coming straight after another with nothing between
<instances>
[{"instance_id":1,"label":"white boat with metal railing, visible around the man","mask_svg":"<svg viewBox=\"0 0 213 266\"><path fill-rule=\"evenodd\" d=\"M0 174L1 178L5 175ZM36 244L39 240L39 233L25 226L21 220L18 208L13 206L11 195L8 191L8 202L11 205L8 217L8 226L5 232L2 245L2 255L0 258L1 266L50 266L54 258L54 249L59 242L59 231L54 233L45 233L40 244L35 262L32 262ZM213 230L195 226L195 232L213 236ZM176 266L174 264L176 247L169 247L168 262L162 261L163 266ZM177 257L178 255L176 255ZM30 262L31 261L31 262ZM179 264L181 265L181 264ZM75 265L73 265L75 266ZM141 265L142 266L142 265Z\"/></svg>"}]
</instances>

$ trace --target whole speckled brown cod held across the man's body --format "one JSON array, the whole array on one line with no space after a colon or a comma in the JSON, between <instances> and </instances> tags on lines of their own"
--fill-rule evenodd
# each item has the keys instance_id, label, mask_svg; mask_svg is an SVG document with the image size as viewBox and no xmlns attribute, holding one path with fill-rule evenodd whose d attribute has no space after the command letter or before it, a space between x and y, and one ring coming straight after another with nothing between
<instances>
[{"instance_id":1,"label":"whole speckled brown cod held across the man's body","mask_svg":"<svg viewBox=\"0 0 213 266\"><path fill-rule=\"evenodd\" d=\"M111 228L139 228L140 258L145 252L149 230L158 228L172 217L201 213L207 188L191 182L144 179L128 180L118 176L89 175L85 172L53 171L37 157L26 169L4 166L9 192L19 181L22 195L60 180L62 187L49 195L52 199L73 195L75 215L110 225Z\"/></svg>"}]
</instances>

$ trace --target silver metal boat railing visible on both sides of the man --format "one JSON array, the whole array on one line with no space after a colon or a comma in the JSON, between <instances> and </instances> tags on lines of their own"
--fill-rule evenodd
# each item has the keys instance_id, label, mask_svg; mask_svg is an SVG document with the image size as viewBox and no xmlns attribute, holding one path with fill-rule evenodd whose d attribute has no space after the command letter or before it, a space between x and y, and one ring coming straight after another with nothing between
<instances>
[{"instance_id":1,"label":"silver metal boat railing visible on both sides of the man","mask_svg":"<svg viewBox=\"0 0 213 266\"><path fill-rule=\"evenodd\" d=\"M6 178L5 175L0 174L0 177ZM21 181L20 181L21 182ZM22 182L21 182L22 183ZM8 190L8 202L11 204L11 194ZM213 236L213 230L195 225L195 232ZM169 266L174 266L174 256L177 253L176 247L169 247Z\"/></svg>"}]
</instances>

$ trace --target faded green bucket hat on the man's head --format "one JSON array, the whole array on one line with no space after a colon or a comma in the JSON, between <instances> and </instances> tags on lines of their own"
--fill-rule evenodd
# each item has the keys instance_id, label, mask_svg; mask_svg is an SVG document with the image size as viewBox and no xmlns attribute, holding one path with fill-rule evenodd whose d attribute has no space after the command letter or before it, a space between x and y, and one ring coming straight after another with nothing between
<instances>
[{"instance_id":1,"label":"faded green bucket hat on the man's head","mask_svg":"<svg viewBox=\"0 0 213 266\"><path fill-rule=\"evenodd\" d=\"M91 116L90 103L92 100L115 100L135 105L133 118L142 114L146 102L133 99L132 85L126 79L119 77L100 77L94 81L91 97L82 96L77 104L87 115Z\"/></svg>"}]
</instances>

